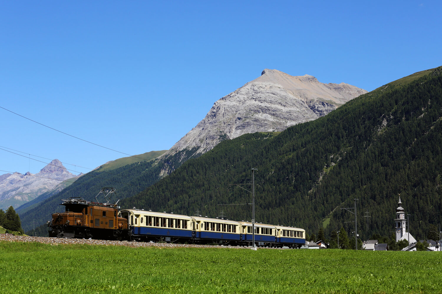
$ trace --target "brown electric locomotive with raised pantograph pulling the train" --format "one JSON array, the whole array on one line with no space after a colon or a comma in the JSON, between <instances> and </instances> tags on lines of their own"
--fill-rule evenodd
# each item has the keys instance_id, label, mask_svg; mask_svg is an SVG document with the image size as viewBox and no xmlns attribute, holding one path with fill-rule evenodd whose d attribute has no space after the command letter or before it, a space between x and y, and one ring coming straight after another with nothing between
<instances>
[{"instance_id":1,"label":"brown electric locomotive with raised pantograph pulling the train","mask_svg":"<svg viewBox=\"0 0 442 294\"><path fill-rule=\"evenodd\" d=\"M113 188L103 188L100 193L109 192L105 189L112 189L110 193L115 191ZM127 220L118 217L119 207L116 203L110 204L109 201L96 203L81 197L61 200L63 201L61 205L65 205L65 212L52 214L52 221L48 221L50 237L127 239L129 235Z\"/></svg>"}]
</instances>

